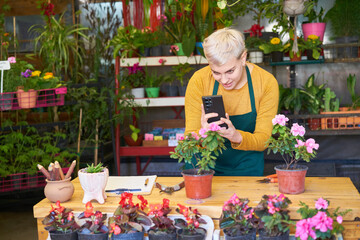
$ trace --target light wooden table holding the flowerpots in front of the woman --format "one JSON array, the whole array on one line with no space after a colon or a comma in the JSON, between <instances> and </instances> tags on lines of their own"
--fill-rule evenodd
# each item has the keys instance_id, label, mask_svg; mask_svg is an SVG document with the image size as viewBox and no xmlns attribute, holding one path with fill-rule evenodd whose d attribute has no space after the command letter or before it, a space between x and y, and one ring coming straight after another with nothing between
<instances>
[{"instance_id":1,"label":"light wooden table holding the flowerpots in front of the woman","mask_svg":"<svg viewBox=\"0 0 360 240\"><path fill-rule=\"evenodd\" d=\"M201 214L208 215L214 219L215 228L218 228L218 219L221 215L222 205L234 193L241 198L249 198L250 206L259 203L264 194L279 194L277 183L258 183L256 180L261 177L214 177L212 196L203 199L202 203L186 198L185 189L168 195L159 193L157 188L152 190L151 195L144 196L149 203L162 203L163 198L170 200L170 206L175 208L177 203L193 206ZM182 177L158 177L157 182L173 186L183 181ZM73 209L74 212L83 212L85 205L82 203L83 190L79 180L73 180L75 192L72 199L62 205ZM319 197L330 201L330 210L341 207L341 210L352 209L344 217L345 239L360 238L360 222L354 221L355 217L360 217L360 195L352 184L350 178L345 177L307 177L305 182L305 192L299 195L287 195L292 201L290 205L290 215L292 219L299 219L300 215L296 213L299 208L299 202L305 202L310 207L315 206L315 200ZM105 213L112 213L118 206L119 197L108 197L105 204L98 204L93 201L95 210ZM137 200L137 199L136 199ZM192 201L192 204L189 202ZM34 217L37 219L38 238L43 240L47 238L48 233L42 225L42 219L49 213L51 202L43 199L34 206ZM175 211L173 212L175 213Z\"/></svg>"}]
</instances>

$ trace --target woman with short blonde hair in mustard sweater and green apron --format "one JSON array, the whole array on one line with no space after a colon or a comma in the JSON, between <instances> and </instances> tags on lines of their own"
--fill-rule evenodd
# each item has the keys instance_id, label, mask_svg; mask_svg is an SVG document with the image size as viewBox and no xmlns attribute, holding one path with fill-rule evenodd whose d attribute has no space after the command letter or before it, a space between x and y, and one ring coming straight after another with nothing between
<instances>
[{"instance_id":1,"label":"woman with short blonde hair in mustard sweater and green apron","mask_svg":"<svg viewBox=\"0 0 360 240\"><path fill-rule=\"evenodd\" d=\"M277 113L279 87L272 74L246 62L247 52L242 33L220 29L203 43L209 62L195 72L185 95L185 134L208 127L202 96L222 95L228 128L219 130L227 149L216 160L219 176L262 176L265 143L272 131L271 120Z\"/></svg>"}]
</instances>

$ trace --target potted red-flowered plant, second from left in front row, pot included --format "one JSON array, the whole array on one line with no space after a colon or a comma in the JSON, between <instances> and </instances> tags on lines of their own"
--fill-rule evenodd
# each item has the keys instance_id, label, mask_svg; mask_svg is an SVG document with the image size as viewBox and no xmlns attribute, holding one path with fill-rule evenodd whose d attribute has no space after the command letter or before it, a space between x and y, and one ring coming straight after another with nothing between
<instances>
[{"instance_id":1,"label":"potted red-flowered plant, second from left in front row, pot included","mask_svg":"<svg viewBox=\"0 0 360 240\"><path fill-rule=\"evenodd\" d=\"M78 231L79 240L108 240L109 229L105 225L107 214L100 211L94 212L91 202L85 205L85 211L80 213L78 219L86 219Z\"/></svg>"}]
</instances>

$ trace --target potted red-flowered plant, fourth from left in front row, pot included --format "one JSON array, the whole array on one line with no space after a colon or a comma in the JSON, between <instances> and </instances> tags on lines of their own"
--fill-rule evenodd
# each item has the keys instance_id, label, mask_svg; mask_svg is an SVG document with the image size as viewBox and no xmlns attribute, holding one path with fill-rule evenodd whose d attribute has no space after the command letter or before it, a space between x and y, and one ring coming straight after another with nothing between
<instances>
[{"instance_id":1,"label":"potted red-flowered plant, fourth from left in front row, pot included","mask_svg":"<svg viewBox=\"0 0 360 240\"><path fill-rule=\"evenodd\" d=\"M153 222L153 226L149 229L149 239L168 239L176 240L176 228L174 221L168 217L171 212L169 206L170 200L164 198L162 204L150 204L148 213Z\"/></svg>"}]
</instances>

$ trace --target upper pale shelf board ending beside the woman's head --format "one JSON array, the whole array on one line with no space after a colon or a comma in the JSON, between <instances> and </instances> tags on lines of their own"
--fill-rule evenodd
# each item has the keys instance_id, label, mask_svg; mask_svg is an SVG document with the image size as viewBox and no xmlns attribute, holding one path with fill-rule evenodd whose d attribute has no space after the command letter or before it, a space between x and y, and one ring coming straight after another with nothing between
<instances>
[{"instance_id":1,"label":"upper pale shelf board ending beside the woman's head","mask_svg":"<svg viewBox=\"0 0 360 240\"><path fill-rule=\"evenodd\" d=\"M159 60L165 60L163 64ZM129 67L135 63L140 63L140 66L174 66L179 65L180 63L189 63L189 64L208 64L206 58L201 55L195 55L191 57L186 56L159 56L159 57L144 57L144 58L123 58L120 59L121 67Z\"/></svg>"}]
</instances>

